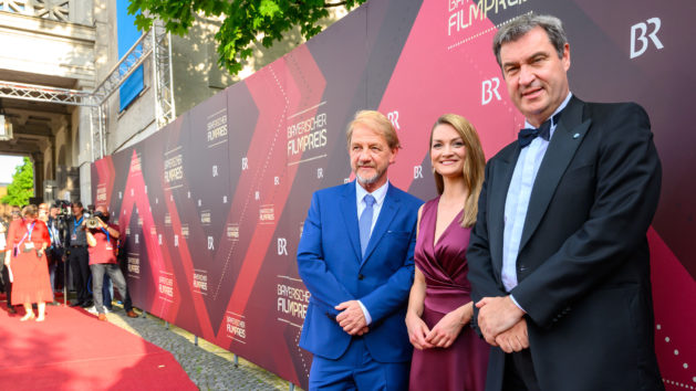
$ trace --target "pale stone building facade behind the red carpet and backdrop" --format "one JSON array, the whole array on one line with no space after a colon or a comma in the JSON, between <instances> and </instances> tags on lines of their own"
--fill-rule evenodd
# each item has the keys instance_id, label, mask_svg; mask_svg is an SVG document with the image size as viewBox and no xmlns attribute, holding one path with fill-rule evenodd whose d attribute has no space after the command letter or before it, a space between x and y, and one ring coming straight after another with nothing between
<instances>
[{"instance_id":1,"label":"pale stone building facade behind the red carpet and backdrop","mask_svg":"<svg viewBox=\"0 0 696 391\"><path fill-rule=\"evenodd\" d=\"M293 31L271 49L259 44L246 68L232 76L217 64L220 21L198 17L186 36L160 42L157 60L154 54L141 59L143 88L122 108L120 85L110 82L114 75L120 78L118 70L127 63L118 53L117 3L0 0L0 115L13 129L12 139L0 141L0 154L31 158L37 200L92 203L91 162L163 126L157 120L163 94L156 78L166 78L164 73L170 83L165 97L170 101L170 120L304 42ZM323 24L345 13L333 10ZM163 59L170 70L163 68ZM46 98L45 92L62 95ZM72 97L77 94L83 96Z\"/></svg>"}]
</instances>

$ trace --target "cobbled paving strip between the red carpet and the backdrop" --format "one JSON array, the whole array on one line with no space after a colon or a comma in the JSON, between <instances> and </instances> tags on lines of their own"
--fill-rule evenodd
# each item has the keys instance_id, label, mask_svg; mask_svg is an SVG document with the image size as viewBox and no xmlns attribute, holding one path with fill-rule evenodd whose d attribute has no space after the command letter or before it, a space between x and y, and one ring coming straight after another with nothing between
<instances>
[{"instance_id":1,"label":"cobbled paving strip between the red carpet and the backdrop","mask_svg":"<svg viewBox=\"0 0 696 391\"><path fill-rule=\"evenodd\" d=\"M231 352L200 338L198 346L195 346L195 337L190 332L175 326L167 330L164 320L149 314L146 317L128 318L123 309L117 309L106 317L112 324L170 351L200 390L256 391L290 388L288 381L242 358L239 358L239 364L235 367ZM295 387L295 390L301 389Z\"/></svg>"}]
</instances>

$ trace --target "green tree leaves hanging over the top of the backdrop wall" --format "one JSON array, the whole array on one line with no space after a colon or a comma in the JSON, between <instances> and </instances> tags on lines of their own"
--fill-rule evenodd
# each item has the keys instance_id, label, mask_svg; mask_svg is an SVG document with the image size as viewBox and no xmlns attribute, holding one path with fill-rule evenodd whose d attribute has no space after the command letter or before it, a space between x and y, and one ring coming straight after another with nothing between
<instances>
[{"instance_id":1,"label":"green tree leaves hanging over the top of the backdrop wall","mask_svg":"<svg viewBox=\"0 0 696 391\"><path fill-rule=\"evenodd\" d=\"M128 13L135 15L141 31L152 27L155 18L172 33L184 35L197 13L221 17L216 33L219 64L231 74L241 71L241 62L252 54L260 38L263 46L283 39L283 33L299 27L305 39L321 32L318 22L329 17L329 8L352 9L366 0L132 0Z\"/></svg>"}]
</instances>

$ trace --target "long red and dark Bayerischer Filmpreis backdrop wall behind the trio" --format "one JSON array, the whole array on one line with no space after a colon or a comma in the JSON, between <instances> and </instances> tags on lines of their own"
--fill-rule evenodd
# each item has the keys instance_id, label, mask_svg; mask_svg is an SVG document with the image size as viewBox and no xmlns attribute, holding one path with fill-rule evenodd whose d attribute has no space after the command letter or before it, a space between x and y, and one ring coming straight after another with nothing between
<instances>
[{"instance_id":1,"label":"long red and dark Bayerischer Filmpreis backdrop wall behind the trio","mask_svg":"<svg viewBox=\"0 0 696 391\"><path fill-rule=\"evenodd\" d=\"M298 348L309 292L295 253L311 193L351 180L345 126L376 108L403 144L391 181L435 194L432 124L467 117L486 156L523 124L491 53L497 29L552 13L571 42L572 92L635 101L653 121L663 191L648 233L656 349L668 389L696 387L696 168L687 67L693 1L371 0L138 145L93 165L93 199L125 234L135 304L307 387ZM607 319L611 321L611 319Z\"/></svg>"}]
</instances>

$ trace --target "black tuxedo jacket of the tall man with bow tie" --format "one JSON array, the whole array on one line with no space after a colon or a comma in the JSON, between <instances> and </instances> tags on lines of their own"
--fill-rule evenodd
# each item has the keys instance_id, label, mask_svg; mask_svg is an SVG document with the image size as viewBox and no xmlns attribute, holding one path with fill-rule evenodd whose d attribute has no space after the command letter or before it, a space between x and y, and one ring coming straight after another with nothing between
<instances>
[{"instance_id":1,"label":"black tuxedo jacket of the tall man with bow tie","mask_svg":"<svg viewBox=\"0 0 696 391\"><path fill-rule=\"evenodd\" d=\"M505 202L517 141L486 166L467 253L472 298L506 296ZM661 163L636 104L571 98L543 157L510 294L527 311L542 390L662 390L646 231ZM475 317L478 314L475 314ZM492 348L487 390L500 390L505 353Z\"/></svg>"}]
</instances>

